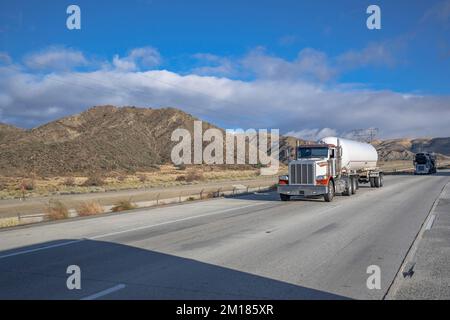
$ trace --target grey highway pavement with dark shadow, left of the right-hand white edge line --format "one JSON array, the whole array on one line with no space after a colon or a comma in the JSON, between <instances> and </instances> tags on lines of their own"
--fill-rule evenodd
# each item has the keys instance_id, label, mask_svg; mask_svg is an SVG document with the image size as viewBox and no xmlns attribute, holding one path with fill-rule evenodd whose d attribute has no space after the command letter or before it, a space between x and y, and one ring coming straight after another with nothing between
<instances>
[{"instance_id":1,"label":"grey highway pavement with dark shadow, left of the right-hand white edge line","mask_svg":"<svg viewBox=\"0 0 450 320\"><path fill-rule=\"evenodd\" d=\"M265 193L1 231L0 298L381 299L449 175L387 176L332 203Z\"/></svg>"}]
</instances>

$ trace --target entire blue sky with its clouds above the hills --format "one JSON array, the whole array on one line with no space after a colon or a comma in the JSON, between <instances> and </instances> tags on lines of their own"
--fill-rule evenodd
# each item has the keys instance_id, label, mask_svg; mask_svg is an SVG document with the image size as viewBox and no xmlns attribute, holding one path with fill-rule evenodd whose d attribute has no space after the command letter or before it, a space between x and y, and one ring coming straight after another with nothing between
<instances>
[{"instance_id":1,"label":"entire blue sky with its clouds above the hills","mask_svg":"<svg viewBox=\"0 0 450 320\"><path fill-rule=\"evenodd\" d=\"M70 4L81 8L81 30L66 28ZM381 30L366 27L370 4L381 8ZM221 126L300 136L370 126L386 137L450 135L449 35L449 0L2 1L0 122L33 127L101 103L171 104ZM137 85L141 76L153 82ZM58 96L61 84L74 97ZM237 119L236 110L246 112ZM327 119L305 116L313 110ZM333 119L341 110L353 118Z\"/></svg>"}]
</instances>

